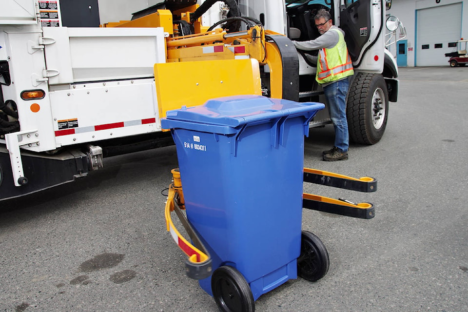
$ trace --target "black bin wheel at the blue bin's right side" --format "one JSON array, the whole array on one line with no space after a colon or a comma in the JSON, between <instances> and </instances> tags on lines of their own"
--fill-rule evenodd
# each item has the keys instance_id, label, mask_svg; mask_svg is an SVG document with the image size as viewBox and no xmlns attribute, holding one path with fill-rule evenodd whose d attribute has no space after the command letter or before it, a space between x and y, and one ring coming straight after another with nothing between
<instances>
[{"instance_id":1,"label":"black bin wheel at the blue bin's right side","mask_svg":"<svg viewBox=\"0 0 468 312\"><path fill-rule=\"evenodd\" d=\"M315 282L325 276L330 267L327 249L320 238L308 231L302 231L301 255L297 259L297 274Z\"/></svg>"}]
</instances>

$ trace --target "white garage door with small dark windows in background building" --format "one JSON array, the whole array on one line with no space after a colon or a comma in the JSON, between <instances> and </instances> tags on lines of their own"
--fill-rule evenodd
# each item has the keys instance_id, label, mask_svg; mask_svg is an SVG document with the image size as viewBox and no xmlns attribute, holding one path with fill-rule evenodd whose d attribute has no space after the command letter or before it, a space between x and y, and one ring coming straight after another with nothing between
<instances>
[{"instance_id":1,"label":"white garage door with small dark windows in background building","mask_svg":"<svg viewBox=\"0 0 468 312\"><path fill-rule=\"evenodd\" d=\"M448 43L460 40L462 2L417 10L416 66L448 66Z\"/></svg>"}]
</instances>

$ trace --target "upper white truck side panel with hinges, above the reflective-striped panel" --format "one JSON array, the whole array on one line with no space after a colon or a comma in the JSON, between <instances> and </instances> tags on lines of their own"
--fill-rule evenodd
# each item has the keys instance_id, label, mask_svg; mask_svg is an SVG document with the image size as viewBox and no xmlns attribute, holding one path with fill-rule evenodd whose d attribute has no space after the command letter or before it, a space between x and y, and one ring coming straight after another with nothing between
<instances>
[{"instance_id":1,"label":"upper white truck side panel with hinges, above the reflective-striped panel","mask_svg":"<svg viewBox=\"0 0 468 312\"><path fill-rule=\"evenodd\" d=\"M165 62L162 28L44 27L49 84L154 76Z\"/></svg>"}]
</instances>

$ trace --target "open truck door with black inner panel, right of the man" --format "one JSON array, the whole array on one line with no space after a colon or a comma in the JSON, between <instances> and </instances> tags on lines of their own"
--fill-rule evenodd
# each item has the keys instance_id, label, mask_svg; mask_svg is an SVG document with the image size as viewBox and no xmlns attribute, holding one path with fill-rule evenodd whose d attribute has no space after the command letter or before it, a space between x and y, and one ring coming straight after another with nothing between
<instances>
[{"instance_id":1,"label":"open truck door with black inner panel, right of the man","mask_svg":"<svg viewBox=\"0 0 468 312\"><path fill-rule=\"evenodd\" d=\"M355 68L378 72L383 67L384 12L382 0L341 0L340 28Z\"/></svg>"}]
</instances>

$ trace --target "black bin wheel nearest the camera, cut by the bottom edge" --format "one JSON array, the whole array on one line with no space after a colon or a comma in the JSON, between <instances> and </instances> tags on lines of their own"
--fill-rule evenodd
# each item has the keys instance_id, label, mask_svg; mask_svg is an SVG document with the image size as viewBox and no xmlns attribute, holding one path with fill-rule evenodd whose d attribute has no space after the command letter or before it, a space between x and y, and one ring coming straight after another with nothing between
<instances>
[{"instance_id":1,"label":"black bin wheel nearest the camera, cut by the bottom edge","mask_svg":"<svg viewBox=\"0 0 468 312\"><path fill-rule=\"evenodd\" d=\"M255 311L252 290L244 276L233 267L222 266L215 270L211 277L211 290L220 311Z\"/></svg>"}]
</instances>

